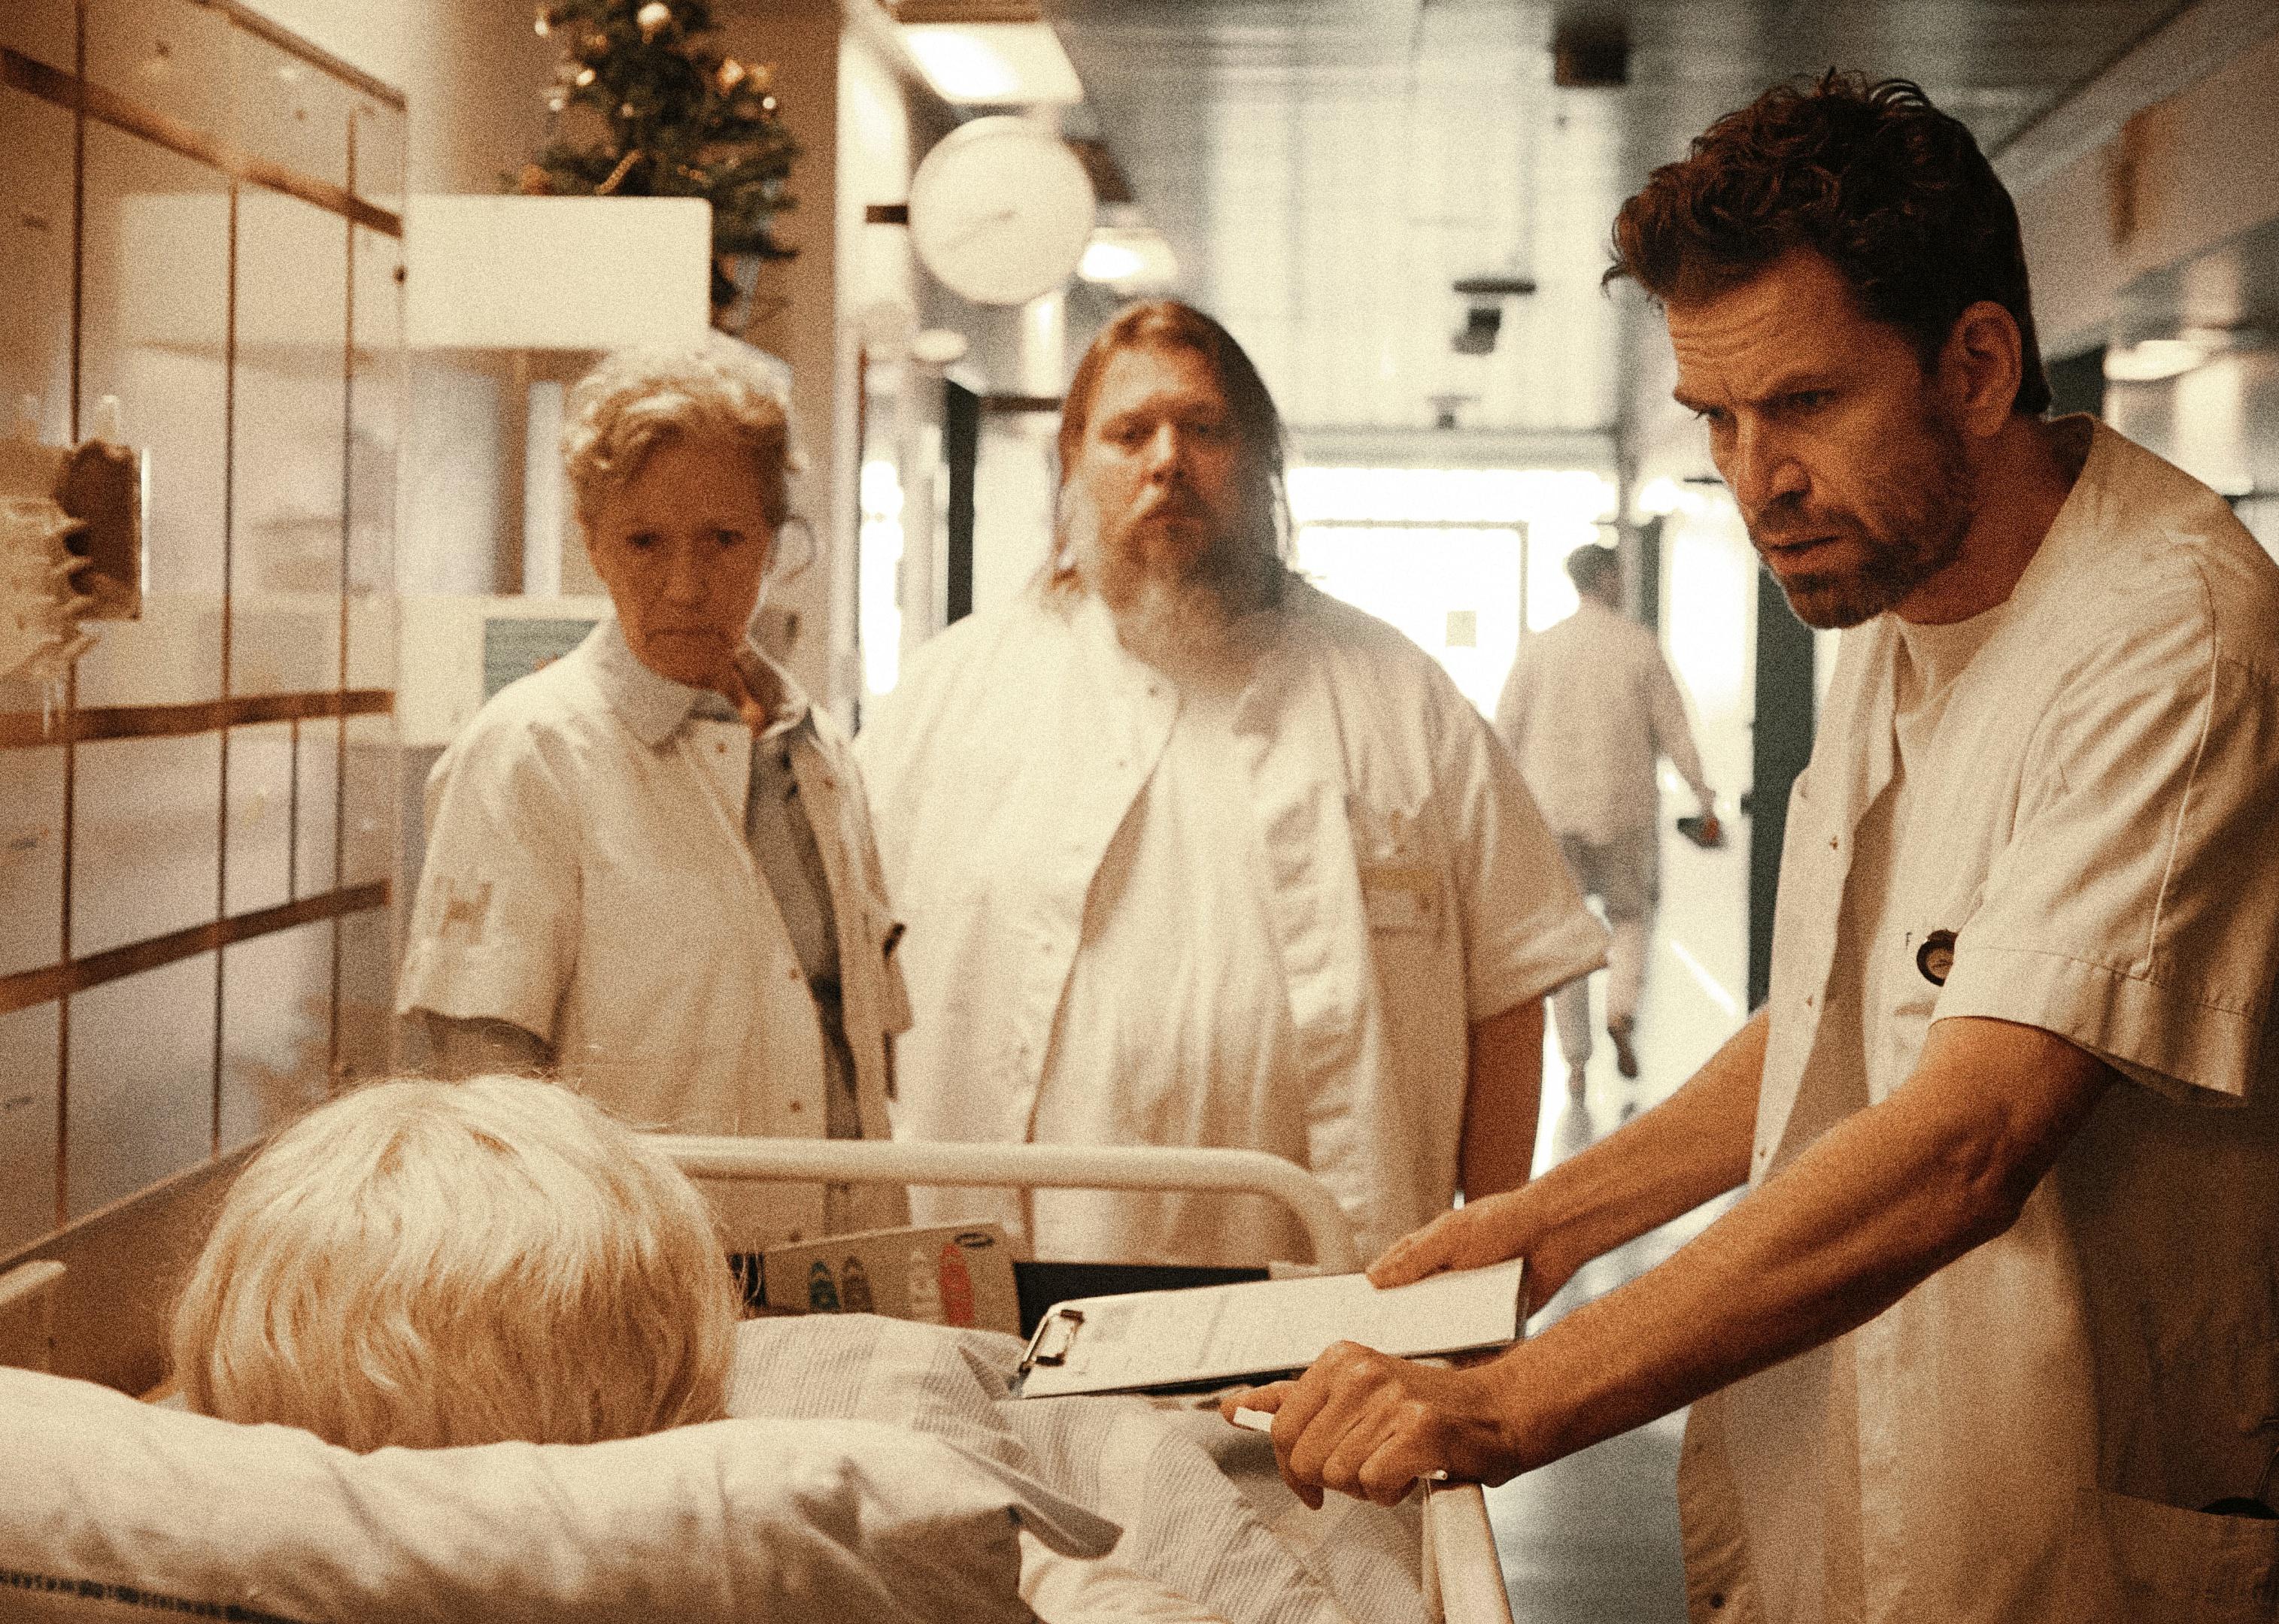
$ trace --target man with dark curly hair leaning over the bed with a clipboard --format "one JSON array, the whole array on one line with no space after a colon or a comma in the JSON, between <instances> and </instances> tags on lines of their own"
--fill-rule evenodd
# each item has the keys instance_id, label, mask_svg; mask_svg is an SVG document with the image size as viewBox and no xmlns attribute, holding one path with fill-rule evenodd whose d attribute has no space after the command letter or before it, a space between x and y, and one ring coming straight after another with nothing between
<instances>
[{"instance_id":1,"label":"man with dark curly hair leaning over the bed with a clipboard","mask_svg":"<svg viewBox=\"0 0 2279 1624\"><path fill-rule=\"evenodd\" d=\"M2215 492L2044 421L2017 212L1912 84L1721 118L1614 251L1789 604L1855 629L1771 998L1372 1276L1525 1255L1543 1301L1746 1198L1495 1362L1340 1344L1244 1403L1292 1483L1379 1499L1691 1403L1696 1619L2270 1617L2279 569Z\"/></svg>"}]
</instances>

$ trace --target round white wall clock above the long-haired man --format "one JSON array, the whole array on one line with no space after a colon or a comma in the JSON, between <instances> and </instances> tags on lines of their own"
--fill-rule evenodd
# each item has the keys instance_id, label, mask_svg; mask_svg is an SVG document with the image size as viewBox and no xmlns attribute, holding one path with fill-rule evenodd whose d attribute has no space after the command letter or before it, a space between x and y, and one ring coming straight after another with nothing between
<instances>
[{"instance_id":1,"label":"round white wall clock above the long-haired man","mask_svg":"<svg viewBox=\"0 0 2279 1624\"><path fill-rule=\"evenodd\" d=\"M1076 153L1026 118L959 125L909 182L918 260L978 305L1023 305L1069 280L1092 216L1092 180Z\"/></svg>"}]
</instances>

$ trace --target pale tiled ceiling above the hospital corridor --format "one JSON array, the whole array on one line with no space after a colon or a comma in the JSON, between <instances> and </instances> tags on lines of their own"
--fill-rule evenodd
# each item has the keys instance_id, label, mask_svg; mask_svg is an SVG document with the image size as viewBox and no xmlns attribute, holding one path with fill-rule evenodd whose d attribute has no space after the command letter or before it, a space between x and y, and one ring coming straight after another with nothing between
<instances>
[{"instance_id":1,"label":"pale tiled ceiling above the hospital corridor","mask_svg":"<svg viewBox=\"0 0 2279 1624\"><path fill-rule=\"evenodd\" d=\"M1992 153L2183 0L1053 0L1087 116L1183 292L1301 430L1609 428L1614 210L1766 84L1905 75ZM1557 89L1570 14L1620 23L1623 89ZM1490 355L1452 280L1518 273Z\"/></svg>"}]
</instances>

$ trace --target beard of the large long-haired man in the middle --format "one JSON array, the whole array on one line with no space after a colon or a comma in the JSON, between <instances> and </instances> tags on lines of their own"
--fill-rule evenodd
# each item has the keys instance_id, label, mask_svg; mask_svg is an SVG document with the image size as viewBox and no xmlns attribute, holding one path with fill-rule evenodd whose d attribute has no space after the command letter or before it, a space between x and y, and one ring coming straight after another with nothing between
<instances>
[{"instance_id":1,"label":"beard of the large long-haired man in the middle","mask_svg":"<svg viewBox=\"0 0 2279 1624\"><path fill-rule=\"evenodd\" d=\"M1222 526L1208 512L1181 517L1203 526L1201 544L1181 544L1185 538L1151 519L1110 535L1073 481L1060 499L1062 558L1114 615L1117 640L1167 672L1224 656L1237 624L1274 608L1288 579L1272 519Z\"/></svg>"}]
</instances>

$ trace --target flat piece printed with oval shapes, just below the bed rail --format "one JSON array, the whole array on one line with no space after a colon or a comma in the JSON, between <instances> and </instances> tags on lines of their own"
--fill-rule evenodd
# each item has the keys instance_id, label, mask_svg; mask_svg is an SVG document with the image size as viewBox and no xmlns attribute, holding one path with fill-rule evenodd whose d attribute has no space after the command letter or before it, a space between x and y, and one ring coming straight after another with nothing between
<instances>
[{"instance_id":1,"label":"flat piece printed with oval shapes, just below the bed rail","mask_svg":"<svg viewBox=\"0 0 2279 1624\"><path fill-rule=\"evenodd\" d=\"M887 1314L1021 1335L1012 1248L996 1223L864 1230L761 1253L768 1307Z\"/></svg>"}]
</instances>

